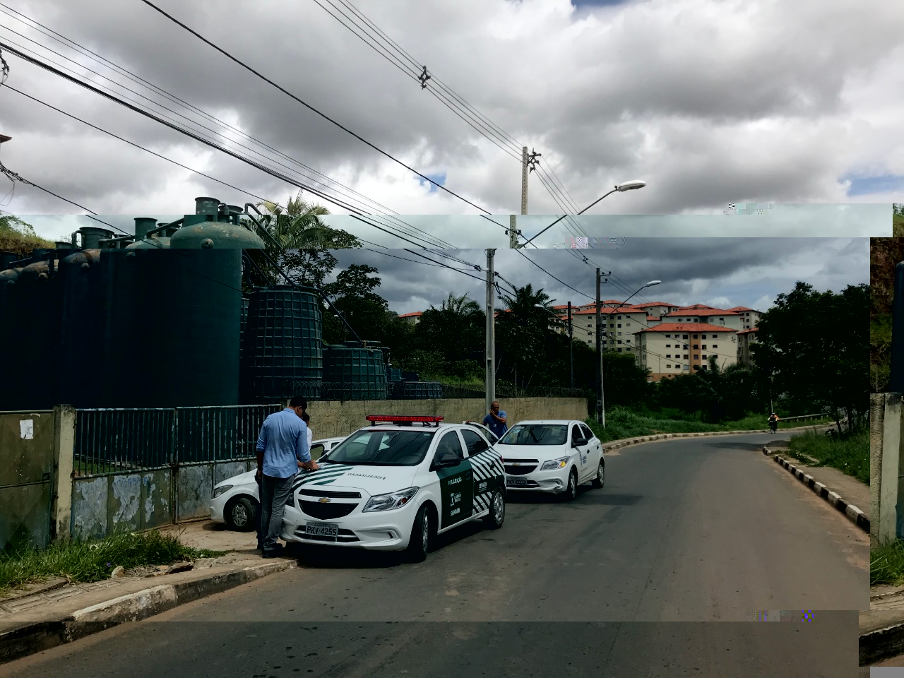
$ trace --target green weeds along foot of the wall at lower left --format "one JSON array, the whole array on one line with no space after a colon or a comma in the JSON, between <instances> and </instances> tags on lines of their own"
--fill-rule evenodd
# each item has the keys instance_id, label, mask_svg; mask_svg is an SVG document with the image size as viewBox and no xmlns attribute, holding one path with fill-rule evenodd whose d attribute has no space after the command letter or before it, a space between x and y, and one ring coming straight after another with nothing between
<instances>
[{"instance_id":1,"label":"green weeds along foot of the wall at lower left","mask_svg":"<svg viewBox=\"0 0 904 678\"><path fill-rule=\"evenodd\" d=\"M193 549L173 534L117 532L95 541L57 541L43 551L28 545L7 547L0 552L0 596L48 577L71 581L99 581L121 565L125 570L169 565L180 560L214 558L225 551Z\"/></svg>"}]
</instances>

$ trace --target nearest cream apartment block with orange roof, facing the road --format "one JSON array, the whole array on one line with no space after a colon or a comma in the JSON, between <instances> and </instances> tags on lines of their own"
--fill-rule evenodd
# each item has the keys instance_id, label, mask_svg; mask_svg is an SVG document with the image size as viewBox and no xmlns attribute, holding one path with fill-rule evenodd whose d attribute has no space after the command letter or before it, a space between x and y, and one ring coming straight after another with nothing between
<instances>
[{"instance_id":1,"label":"nearest cream apartment block with orange roof, facing the road","mask_svg":"<svg viewBox=\"0 0 904 678\"><path fill-rule=\"evenodd\" d=\"M738 330L707 323L661 323L638 330L636 364L650 381L706 369L715 356L720 368L738 360Z\"/></svg>"}]
</instances>

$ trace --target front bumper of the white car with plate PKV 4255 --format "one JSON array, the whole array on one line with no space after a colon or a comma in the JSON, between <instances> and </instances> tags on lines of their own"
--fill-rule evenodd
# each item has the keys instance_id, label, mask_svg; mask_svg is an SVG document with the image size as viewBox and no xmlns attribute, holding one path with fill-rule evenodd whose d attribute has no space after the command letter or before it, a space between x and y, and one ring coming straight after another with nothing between
<instances>
[{"instance_id":1,"label":"front bumper of the white car with plate PKV 4255","mask_svg":"<svg viewBox=\"0 0 904 678\"><path fill-rule=\"evenodd\" d=\"M411 527L418 513L417 504L406 504L391 511L363 513L363 504L343 518L311 518L295 506L286 506L282 534L287 542L351 546L372 551L403 551L408 547ZM306 534L307 523L330 523L339 528L336 537Z\"/></svg>"}]
</instances>

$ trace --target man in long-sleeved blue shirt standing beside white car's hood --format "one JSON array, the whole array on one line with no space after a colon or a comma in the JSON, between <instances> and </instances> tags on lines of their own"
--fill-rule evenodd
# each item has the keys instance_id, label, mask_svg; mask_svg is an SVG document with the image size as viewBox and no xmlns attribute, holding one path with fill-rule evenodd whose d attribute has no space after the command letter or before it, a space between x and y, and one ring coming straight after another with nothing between
<instances>
[{"instance_id":1,"label":"man in long-sleeved blue shirt standing beside white car's hood","mask_svg":"<svg viewBox=\"0 0 904 678\"><path fill-rule=\"evenodd\" d=\"M292 491L298 468L315 471L307 442L307 426L301 416L307 400L296 397L288 407L274 412L260 427L258 437L258 473L260 483L259 549L264 558L274 558L282 551L277 539L282 531L282 516Z\"/></svg>"}]
</instances>

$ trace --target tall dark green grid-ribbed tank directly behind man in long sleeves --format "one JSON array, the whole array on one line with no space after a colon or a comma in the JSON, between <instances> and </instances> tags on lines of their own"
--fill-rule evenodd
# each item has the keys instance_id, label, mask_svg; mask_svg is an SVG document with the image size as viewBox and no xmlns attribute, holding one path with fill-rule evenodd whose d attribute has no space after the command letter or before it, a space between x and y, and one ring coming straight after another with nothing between
<instances>
[{"instance_id":1,"label":"tall dark green grid-ribbed tank directly behind man in long sleeves","mask_svg":"<svg viewBox=\"0 0 904 678\"><path fill-rule=\"evenodd\" d=\"M244 338L253 400L319 398L324 372L322 336L317 295L290 285L252 292Z\"/></svg>"}]
</instances>

